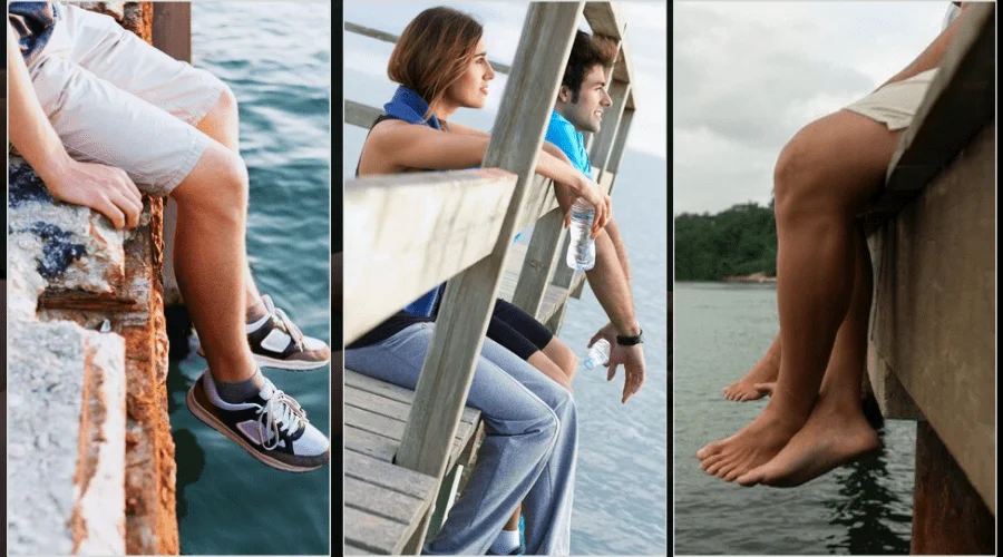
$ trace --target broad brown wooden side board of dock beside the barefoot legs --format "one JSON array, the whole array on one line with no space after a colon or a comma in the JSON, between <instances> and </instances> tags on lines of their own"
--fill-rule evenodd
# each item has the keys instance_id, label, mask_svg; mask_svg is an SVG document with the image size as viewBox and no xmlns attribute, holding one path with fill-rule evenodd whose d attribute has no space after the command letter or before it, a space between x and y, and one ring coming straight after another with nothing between
<instances>
[{"instance_id":1,"label":"broad brown wooden side board of dock beside the barefoot legs","mask_svg":"<svg viewBox=\"0 0 1003 557\"><path fill-rule=\"evenodd\" d=\"M995 126L987 126L868 238L880 254L869 340L876 359L886 362L993 512L995 147ZM874 368L868 373L871 381L887 375Z\"/></svg>"}]
</instances>

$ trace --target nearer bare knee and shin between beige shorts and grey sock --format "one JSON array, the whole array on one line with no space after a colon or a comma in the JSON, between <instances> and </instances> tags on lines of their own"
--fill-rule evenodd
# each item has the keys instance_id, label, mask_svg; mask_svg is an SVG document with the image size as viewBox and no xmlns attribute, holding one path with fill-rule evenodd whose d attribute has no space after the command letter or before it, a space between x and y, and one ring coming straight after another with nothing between
<instances>
[{"instance_id":1,"label":"nearer bare knee and shin between beige shorts and grey sock","mask_svg":"<svg viewBox=\"0 0 1003 557\"><path fill-rule=\"evenodd\" d=\"M177 203L177 284L210 370L217 381L247 380L256 370L244 335L247 172L233 152L210 141L171 195Z\"/></svg>"}]
</instances>

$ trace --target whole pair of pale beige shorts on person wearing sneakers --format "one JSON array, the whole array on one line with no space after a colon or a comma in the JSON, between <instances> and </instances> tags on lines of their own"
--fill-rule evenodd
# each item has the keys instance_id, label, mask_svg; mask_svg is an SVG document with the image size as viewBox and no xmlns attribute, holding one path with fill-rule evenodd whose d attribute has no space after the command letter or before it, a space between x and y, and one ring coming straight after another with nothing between
<instances>
[{"instance_id":1,"label":"whole pair of pale beige shorts on person wearing sneakers","mask_svg":"<svg viewBox=\"0 0 1003 557\"><path fill-rule=\"evenodd\" d=\"M169 194L212 140L194 126L226 86L108 16L56 6L52 37L28 71L67 152L121 168L153 196Z\"/></svg>"}]
</instances>

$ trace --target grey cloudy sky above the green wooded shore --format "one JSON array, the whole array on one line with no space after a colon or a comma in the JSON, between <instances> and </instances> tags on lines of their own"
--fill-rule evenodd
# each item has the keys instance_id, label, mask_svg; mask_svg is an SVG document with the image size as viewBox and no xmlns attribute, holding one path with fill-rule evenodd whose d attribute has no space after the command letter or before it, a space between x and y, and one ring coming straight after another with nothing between
<instances>
[{"instance_id":1,"label":"grey cloudy sky above the green wooded shore","mask_svg":"<svg viewBox=\"0 0 1003 557\"><path fill-rule=\"evenodd\" d=\"M768 203L787 140L912 62L947 6L674 2L673 212Z\"/></svg>"}]
</instances>

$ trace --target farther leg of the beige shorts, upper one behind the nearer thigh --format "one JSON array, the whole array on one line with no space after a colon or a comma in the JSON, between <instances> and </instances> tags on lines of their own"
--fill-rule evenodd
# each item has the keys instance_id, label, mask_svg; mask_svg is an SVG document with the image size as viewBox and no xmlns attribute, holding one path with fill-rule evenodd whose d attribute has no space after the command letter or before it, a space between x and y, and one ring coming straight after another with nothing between
<instances>
[{"instance_id":1,"label":"farther leg of the beige shorts, upper one behind the nearer thigh","mask_svg":"<svg viewBox=\"0 0 1003 557\"><path fill-rule=\"evenodd\" d=\"M208 71L175 60L108 16L60 9L69 61L192 125L218 102L225 86Z\"/></svg>"}]
</instances>

